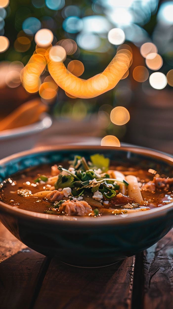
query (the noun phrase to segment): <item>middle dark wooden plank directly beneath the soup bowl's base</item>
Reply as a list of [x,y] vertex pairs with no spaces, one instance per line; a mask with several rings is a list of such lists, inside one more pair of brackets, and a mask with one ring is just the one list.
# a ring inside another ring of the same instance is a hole
[[95,269],[53,259],[34,309],[130,309],[133,270],[134,257]]

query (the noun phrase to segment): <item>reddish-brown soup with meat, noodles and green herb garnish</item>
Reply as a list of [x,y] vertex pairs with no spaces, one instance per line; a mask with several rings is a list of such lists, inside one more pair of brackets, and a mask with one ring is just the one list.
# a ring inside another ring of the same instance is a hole
[[44,165],[15,174],[3,182],[0,199],[25,210],[95,218],[171,203],[173,178],[149,171],[110,166],[109,159],[99,154],[88,162],[75,156],[67,168]]

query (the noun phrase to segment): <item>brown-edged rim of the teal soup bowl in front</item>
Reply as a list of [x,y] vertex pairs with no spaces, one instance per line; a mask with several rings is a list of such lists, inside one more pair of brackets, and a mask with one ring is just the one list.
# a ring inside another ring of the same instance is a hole
[[[125,145],[125,146],[124,146]],[[44,153],[44,152],[53,152],[56,150],[129,150],[133,153],[139,153],[142,155],[146,155],[149,157],[161,159],[162,161],[169,162],[173,166],[173,155],[169,155],[165,152],[153,150],[151,148],[141,147],[141,146],[135,146],[130,144],[122,144],[121,147],[113,147],[113,146],[78,146],[78,145],[51,145],[51,146],[40,146],[33,148],[31,150],[25,150],[19,153],[16,153],[14,155],[10,155],[4,159],[0,160],[0,165],[3,165],[7,162],[10,162],[13,159],[16,158],[22,158],[26,155],[36,154],[36,153]],[[128,146],[127,146],[128,145]],[[53,214],[42,214],[42,213],[36,213],[29,210],[23,210],[20,208],[15,208],[12,205],[8,205],[2,201],[0,201],[0,208],[7,210],[7,212],[11,213],[14,216],[18,217],[24,217],[25,219],[32,219],[36,221],[42,221],[45,223],[51,223],[51,224],[63,224],[63,225],[77,225],[77,226],[102,226],[102,225],[126,225],[129,223],[139,222],[139,221],[145,221],[149,219],[158,218],[164,215],[167,215],[169,211],[173,211],[173,202],[169,203],[167,205],[160,206],[155,209],[151,209],[149,211],[143,212],[137,212],[132,214],[122,214],[118,216],[103,216],[99,217],[97,219],[95,218],[87,218],[87,217],[67,217],[67,216],[58,216]]]

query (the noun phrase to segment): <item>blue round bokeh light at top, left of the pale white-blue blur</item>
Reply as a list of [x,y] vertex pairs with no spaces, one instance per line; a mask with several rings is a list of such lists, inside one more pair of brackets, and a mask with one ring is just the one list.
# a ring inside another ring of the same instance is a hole
[[66,32],[78,33],[83,27],[82,19],[77,16],[67,17],[62,23],[62,27]]

